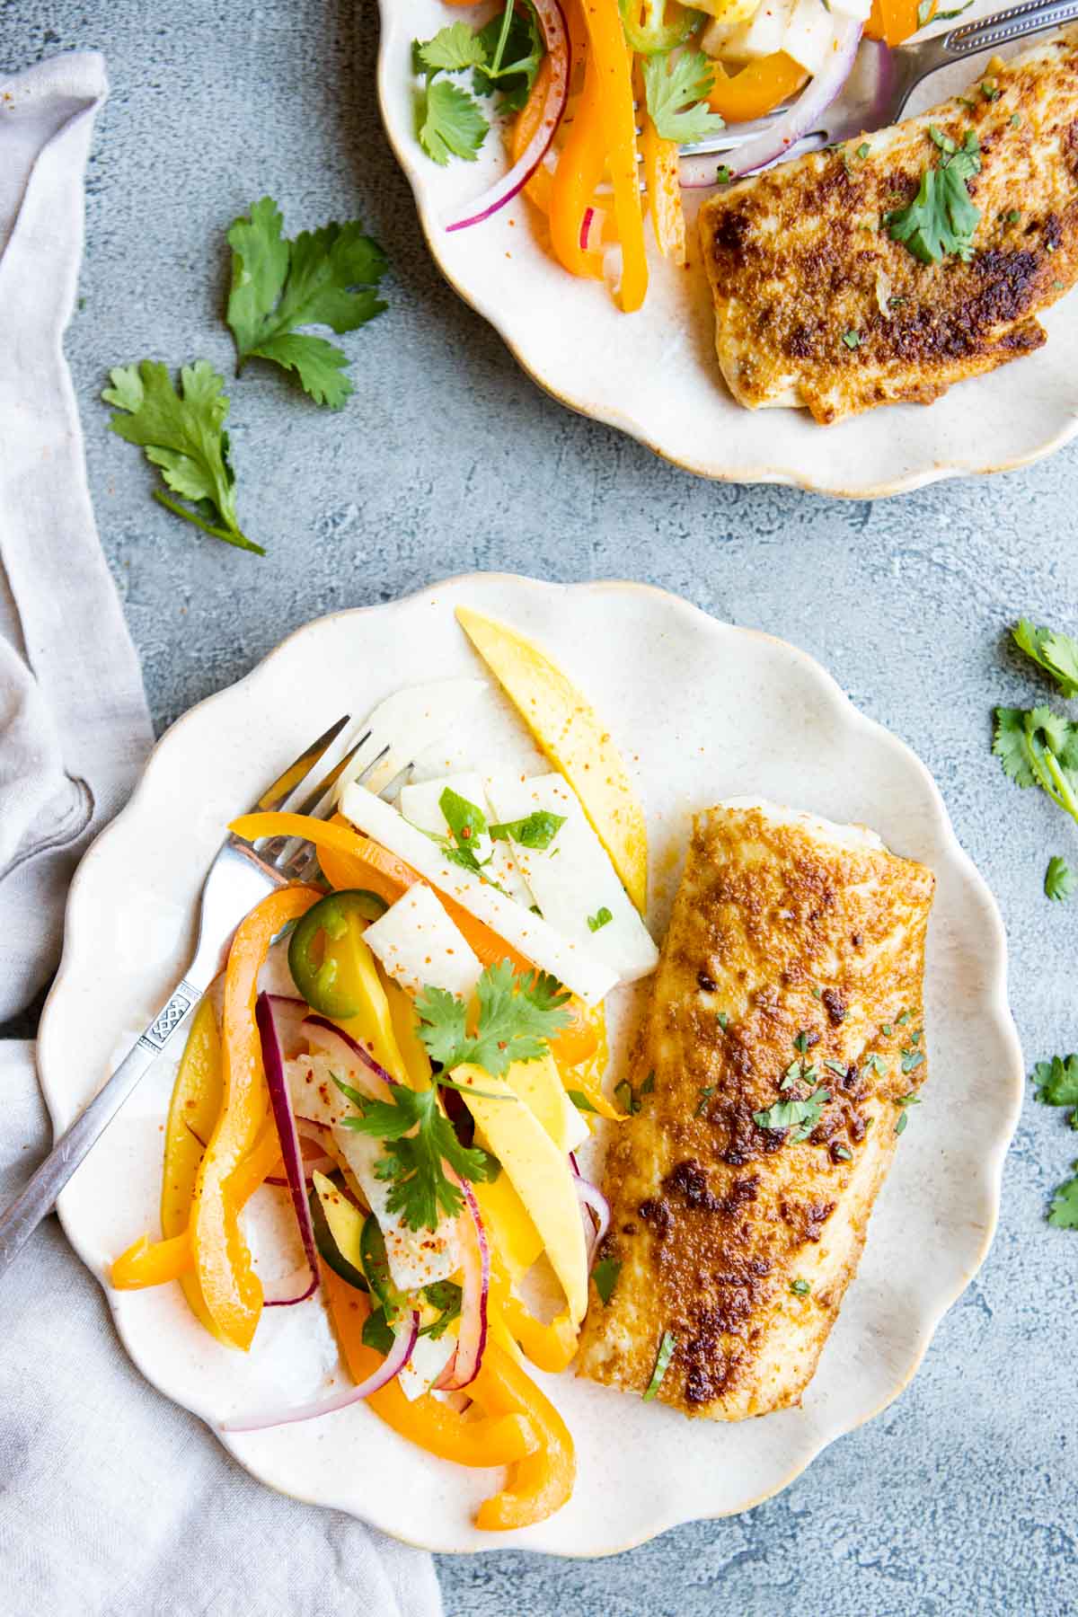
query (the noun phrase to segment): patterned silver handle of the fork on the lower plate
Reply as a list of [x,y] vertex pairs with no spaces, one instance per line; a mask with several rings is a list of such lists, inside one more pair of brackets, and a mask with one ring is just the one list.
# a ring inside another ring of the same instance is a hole
[[50,1151],[37,1172],[31,1176],[21,1195],[0,1214],[0,1276],[19,1255],[74,1169],[137,1087],[147,1067],[157,1061],[187,1012],[197,1006],[202,994],[204,988],[196,986],[187,977],[173,988],[168,1004],[162,1006],[108,1083],[76,1117],[57,1143],[57,1150]]

